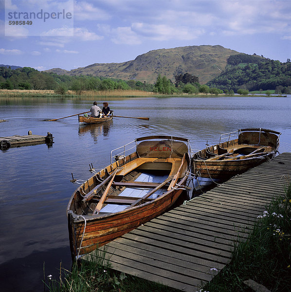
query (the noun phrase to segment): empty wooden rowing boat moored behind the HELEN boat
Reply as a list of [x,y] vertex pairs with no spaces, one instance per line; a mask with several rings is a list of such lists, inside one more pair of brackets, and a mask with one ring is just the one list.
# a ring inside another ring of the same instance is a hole
[[[239,129],[222,134],[219,144],[208,146],[192,157],[191,172],[195,176],[195,189],[223,183],[272,159],[279,147],[280,135],[279,132],[262,128]],[[230,140],[234,137],[237,138]]]

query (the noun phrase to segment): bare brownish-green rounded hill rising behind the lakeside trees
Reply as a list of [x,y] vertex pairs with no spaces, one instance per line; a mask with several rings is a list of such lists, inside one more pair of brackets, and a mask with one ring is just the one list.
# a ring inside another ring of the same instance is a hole
[[175,75],[190,73],[198,76],[200,83],[204,84],[224,71],[229,56],[236,54],[240,53],[219,45],[187,46],[149,51],[123,63],[95,63],[71,71],[54,68],[45,72],[133,79],[147,83],[154,83],[158,74],[174,82]]

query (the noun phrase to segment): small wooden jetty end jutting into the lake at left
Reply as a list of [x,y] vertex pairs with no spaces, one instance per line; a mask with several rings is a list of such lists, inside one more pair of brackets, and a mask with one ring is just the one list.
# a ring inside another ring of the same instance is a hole
[[34,135],[28,131],[28,135],[14,135],[10,137],[0,137],[0,149],[6,150],[10,147],[30,146],[46,143],[53,144],[53,135],[48,132],[46,136]]

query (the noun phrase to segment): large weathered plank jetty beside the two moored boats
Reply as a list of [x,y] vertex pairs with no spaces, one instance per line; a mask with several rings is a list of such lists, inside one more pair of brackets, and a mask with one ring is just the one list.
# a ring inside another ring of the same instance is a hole
[[291,153],[223,183],[119,237],[103,249],[113,269],[181,291],[199,291],[231,261],[234,240],[291,177]]

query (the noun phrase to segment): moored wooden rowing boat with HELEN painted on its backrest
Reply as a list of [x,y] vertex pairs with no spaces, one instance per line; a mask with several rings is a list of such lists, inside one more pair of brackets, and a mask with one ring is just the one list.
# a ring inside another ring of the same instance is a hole
[[112,150],[111,164],[82,183],[68,204],[73,259],[168,210],[189,189],[190,153],[188,139],[172,136],[142,137]]

